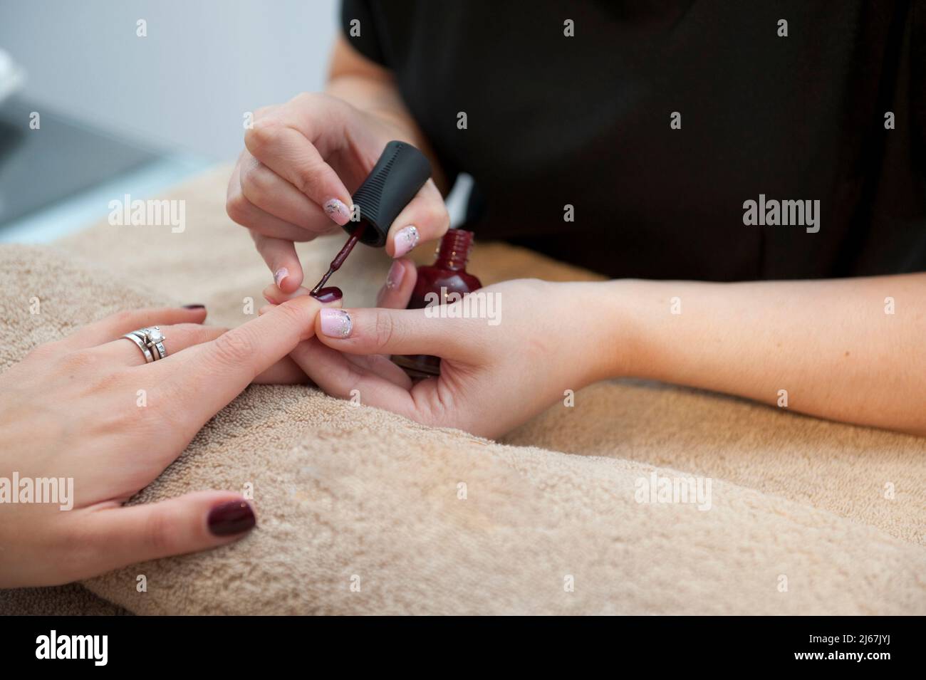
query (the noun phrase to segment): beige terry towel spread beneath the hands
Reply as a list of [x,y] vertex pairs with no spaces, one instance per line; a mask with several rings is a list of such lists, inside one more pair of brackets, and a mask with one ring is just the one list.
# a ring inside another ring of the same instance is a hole
[[[104,224],[67,252],[0,249],[3,365],[127,305],[249,318],[269,274],[224,216],[226,176],[169,196],[187,202],[183,233]],[[307,278],[340,241],[301,249]],[[352,260],[336,283],[370,303],[387,258]],[[139,267],[157,290],[133,282]],[[501,245],[471,269],[485,283],[587,277]],[[924,454],[923,439],[632,381],[584,389],[505,444],[257,386],[138,499],[250,484],[257,530],[85,586],[138,613],[926,613]],[[710,477],[710,509],[637,502],[654,473]],[[23,600],[0,594],[0,611]]]

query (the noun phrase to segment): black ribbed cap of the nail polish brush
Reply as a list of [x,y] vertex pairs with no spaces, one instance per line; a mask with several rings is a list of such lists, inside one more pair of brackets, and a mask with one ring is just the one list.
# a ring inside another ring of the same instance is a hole
[[344,225],[353,234],[366,223],[361,243],[382,247],[394,219],[431,177],[431,164],[407,142],[389,142],[367,179],[354,192],[353,201],[360,219]]

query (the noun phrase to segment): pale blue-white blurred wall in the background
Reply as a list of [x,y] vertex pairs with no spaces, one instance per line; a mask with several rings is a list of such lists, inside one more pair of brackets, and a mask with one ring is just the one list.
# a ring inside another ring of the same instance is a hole
[[244,111],[320,89],[338,11],[336,0],[3,0],[0,47],[40,105],[231,160]]

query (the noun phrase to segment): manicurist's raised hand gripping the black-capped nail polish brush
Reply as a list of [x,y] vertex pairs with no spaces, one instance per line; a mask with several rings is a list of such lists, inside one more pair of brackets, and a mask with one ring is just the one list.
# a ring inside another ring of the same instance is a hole
[[[389,72],[343,39],[332,57],[328,93],[300,94],[255,113],[229,181],[226,209],[250,229],[282,292],[303,282],[294,241],[341,231],[338,225],[350,219],[351,193],[393,140],[424,146]],[[401,257],[419,241],[441,237],[449,223],[429,179],[396,217],[386,252]]]

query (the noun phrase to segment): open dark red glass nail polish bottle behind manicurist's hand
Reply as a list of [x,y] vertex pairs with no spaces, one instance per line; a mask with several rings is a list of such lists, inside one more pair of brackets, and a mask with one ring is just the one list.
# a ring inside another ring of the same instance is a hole
[[[448,229],[437,248],[433,265],[418,267],[418,279],[407,309],[422,309],[445,304],[482,288],[482,283],[466,270],[472,250],[472,231]],[[454,295],[453,293],[457,293]],[[423,378],[441,375],[441,359],[427,354],[396,355],[394,364],[402,366],[409,377]]]

